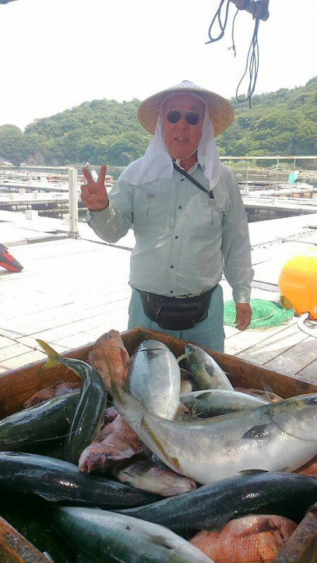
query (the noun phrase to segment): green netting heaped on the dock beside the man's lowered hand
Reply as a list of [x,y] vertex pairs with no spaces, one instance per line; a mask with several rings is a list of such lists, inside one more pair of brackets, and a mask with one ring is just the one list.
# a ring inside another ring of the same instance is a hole
[[[265,301],[264,299],[251,299],[252,316],[249,329],[268,329],[287,323],[294,315],[294,308],[285,309],[278,301]],[[224,324],[235,326],[235,303],[227,301],[223,315]]]

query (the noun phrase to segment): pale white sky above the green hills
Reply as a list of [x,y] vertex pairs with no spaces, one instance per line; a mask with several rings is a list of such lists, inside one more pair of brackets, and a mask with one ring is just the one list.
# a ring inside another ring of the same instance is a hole
[[[225,37],[206,45],[219,3],[17,0],[0,5],[0,125],[23,129],[93,99],[145,99],[182,80],[235,96],[254,22],[249,13],[237,15],[234,58],[228,51],[232,4]],[[256,94],[302,86],[317,74],[316,0],[271,0],[269,11],[259,26]]]

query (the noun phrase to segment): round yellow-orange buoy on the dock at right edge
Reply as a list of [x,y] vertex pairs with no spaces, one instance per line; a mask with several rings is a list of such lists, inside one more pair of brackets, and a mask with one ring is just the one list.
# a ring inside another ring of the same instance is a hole
[[278,286],[285,308],[290,303],[299,315],[309,312],[317,319],[317,247],[290,258],[282,267]]

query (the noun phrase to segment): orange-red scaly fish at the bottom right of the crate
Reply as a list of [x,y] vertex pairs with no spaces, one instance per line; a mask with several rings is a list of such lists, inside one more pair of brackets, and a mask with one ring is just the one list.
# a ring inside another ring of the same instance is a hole
[[216,562],[268,563],[296,527],[282,516],[252,514],[231,520],[219,532],[203,530],[189,543]]

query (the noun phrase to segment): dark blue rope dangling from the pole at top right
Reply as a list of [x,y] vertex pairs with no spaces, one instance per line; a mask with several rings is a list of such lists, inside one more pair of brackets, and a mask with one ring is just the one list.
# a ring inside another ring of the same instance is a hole
[[[214,43],[216,41],[219,41],[219,39],[222,39],[222,37],[225,34],[225,27],[228,23],[228,14],[229,14],[229,7],[230,7],[230,1],[234,2],[236,4],[235,0],[227,0],[227,4],[225,6],[225,15],[223,17],[223,4],[225,4],[225,0],[220,0],[220,4],[218,7],[218,10],[216,11],[216,14],[213,16],[213,20],[211,21],[211,25],[209,25],[209,30],[208,30],[208,34],[209,34],[209,42],[206,42],[206,44],[208,45],[209,43]],[[268,1],[269,0],[259,0],[259,1],[254,1],[254,0],[244,0],[242,2],[242,4],[240,4],[239,2],[239,6],[237,6],[237,11],[235,13],[235,17],[233,18],[232,21],[232,46],[229,48],[233,50],[235,56],[236,56],[236,49],[235,49],[235,18],[237,17],[237,13],[240,10],[248,10],[252,13],[252,15],[254,16],[255,19],[255,24],[254,24],[254,32],[252,35],[252,39],[251,39],[251,44],[249,46],[249,51],[247,54],[247,63],[246,63],[246,67],[244,70],[244,73],[242,75],[242,78],[239,82],[239,84],[237,85],[237,90],[235,93],[235,97],[237,99],[237,101],[239,102],[245,102],[245,101],[249,101],[249,107],[251,108],[251,97],[254,94],[254,90],[256,87],[256,80],[258,77],[258,72],[259,72],[259,43],[258,43],[258,32],[259,32],[259,23],[261,19],[267,19],[268,18]],[[259,11],[259,8],[261,8],[261,10]],[[256,17],[255,17],[256,14]],[[220,32],[218,33],[217,37],[213,37],[213,29],[215,27],[215,23],[216,21],[218,21],[218,25],[220,27]],[[247,71],[249,70],[249,86],[247,89],[247,96],[241,98],[240,94],[239,94],[239,89],[240,86],[244,80],[244,77],[247,75]]]

